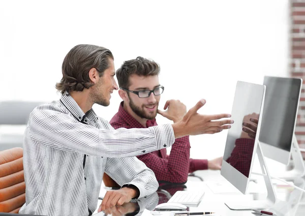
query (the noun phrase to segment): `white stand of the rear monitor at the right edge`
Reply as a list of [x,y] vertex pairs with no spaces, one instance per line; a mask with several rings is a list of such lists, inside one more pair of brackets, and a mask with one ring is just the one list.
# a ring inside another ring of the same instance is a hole
[[280,176],[277,175],[278,178],[293,180],[296,177],[303,177],[305,175],[304,160],[295,135],[292,137],[291,157],[294,166],[293,169],[282,173]]

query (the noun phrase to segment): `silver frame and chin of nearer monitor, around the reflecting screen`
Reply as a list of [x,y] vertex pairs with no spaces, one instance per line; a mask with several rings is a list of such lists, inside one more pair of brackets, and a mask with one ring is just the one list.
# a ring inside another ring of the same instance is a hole
[[[252,161],[251,161],[250,171],[249,171],[249,177],[250,177],[251,171],[253,168],[253,164],[254,164],[254,160],[255,160],[257,144],[258,144],[262,112],[263,112],[264,100],[265,100],[266,86],[260,85],[260,84],[249,83],[249,82],[237,81],[236,89],[237,89],[238,85],[252,85],[252,86],[255,86],[256,88],[258,88],[258,90],[263,90],[262,104],[261,104],[261,108],[260,108],[259,121],[258,121],[257,132],[256,132],[256,137],[255,137],[254,147],[253,147]],[[235,94],[235,96],[236,96],[236,94]],[[235,101],[235,96],[234,96],[234,101]],[[232,111],[234,108],[234,101],[233,101]],[[235,104],[235,106],[236,105],[237,104]],[[232,116],[231,118],[234,120],[234,116]],[[224,176],[231,184],[233,184],[233,186],[235,188],[237,188],[241,193],[246,194],[250,178],[243,175],[241,172],[239,172],[237,169],[235,169],[233,166],[231,166],[224,159],[223,159],[222,168],[221,168],[221,175]]]

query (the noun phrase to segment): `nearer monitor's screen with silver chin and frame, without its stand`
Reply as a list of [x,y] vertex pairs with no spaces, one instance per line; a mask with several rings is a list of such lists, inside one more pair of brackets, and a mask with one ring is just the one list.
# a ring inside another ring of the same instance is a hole
[[256,153],[264,92],[264,85],[236,84],[231,112],[234,124],[228,130],[221,174],[242,193],[246,193]]

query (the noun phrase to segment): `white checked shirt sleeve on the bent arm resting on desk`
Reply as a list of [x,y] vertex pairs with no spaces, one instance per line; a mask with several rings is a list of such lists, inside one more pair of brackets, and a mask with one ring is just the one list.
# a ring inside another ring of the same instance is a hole
[[154,172],[136,157],[108,158],[105,173],[120,186],[136,186],[140,191],[139,198],[156,192],[159,187]]

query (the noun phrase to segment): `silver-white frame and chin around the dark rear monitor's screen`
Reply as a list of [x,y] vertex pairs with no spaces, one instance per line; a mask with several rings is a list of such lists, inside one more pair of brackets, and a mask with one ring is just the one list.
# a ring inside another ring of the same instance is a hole
[[[300,80],[300,91],[299,91],[299,96],[298,96],[298,101],[297,101],[297,108],[296,108],[296,115],[295,115],[295,120],[294,120],[294,126],[293,126],[293,134],[295,134],[295,125],[296,125],[296,120],[297,120],[297,112],[298,112],[298,107],[299,107],[299,101],[300,101],[300,96],[301,96],[301,90],[302,90],[302,79],[301,78],[290,78],[290,77],[272,77],[272,76],[264,76],[265,78],[281,78],[281,79],[287,79],[287,80],[292,80],[292,79],[297,79]],[[276,146],[270,145],[268,143],[264,143],[260,141],[262,151],[264,153],[264,157],[267,157],[269,159],[278,161],[284,165],[288,165],[290,158],[291,158],[291,149],[292,149],[292,140],[291,138],[291,144],[290,144],[290,150],[284,150],[282,148],[278,148]]]

